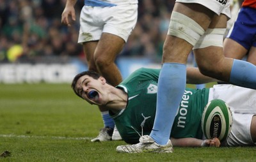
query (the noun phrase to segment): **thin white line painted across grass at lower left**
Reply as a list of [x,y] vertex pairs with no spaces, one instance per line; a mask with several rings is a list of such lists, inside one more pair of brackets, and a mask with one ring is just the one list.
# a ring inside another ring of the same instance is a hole
[[26,135],[0,135],[8,138],[54,138],[60,140],[91,140],[90,137],[65,137],[65,136],[26,136]]

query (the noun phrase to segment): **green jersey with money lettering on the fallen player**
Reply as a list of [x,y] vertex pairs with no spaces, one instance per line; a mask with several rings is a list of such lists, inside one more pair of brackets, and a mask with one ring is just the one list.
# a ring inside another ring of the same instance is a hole
[[[160,70],[140,68],[116,86],[127,92],[128,103],[119,113],[109,111],[109,114],[122,139],[129,144],[138,143],[140,135],[149,135],[153,128],[159,72]],[[172,137],[202,138],[201,117],[208,96],[209,89],[186,88],[173,123]]]

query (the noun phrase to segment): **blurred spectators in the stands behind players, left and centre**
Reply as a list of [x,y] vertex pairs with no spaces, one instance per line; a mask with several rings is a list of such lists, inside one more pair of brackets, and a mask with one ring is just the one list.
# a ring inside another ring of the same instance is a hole
[[[139,0],[138,22],[118,57],[160,62],[174,3]],[[0,0],[0,63],[65,63],[70,57],[85,61],[77,43],[83,4],[77,1],[76,22],[67,27],[61,24],[65,0]]]

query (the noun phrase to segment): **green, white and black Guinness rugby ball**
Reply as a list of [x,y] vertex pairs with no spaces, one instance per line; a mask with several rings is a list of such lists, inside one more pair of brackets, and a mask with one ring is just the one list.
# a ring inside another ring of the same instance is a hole
[[225,101],[212,99],[202,114],[202,130],[207,139],[214,137],[225,140],[233,124],[232,112]]

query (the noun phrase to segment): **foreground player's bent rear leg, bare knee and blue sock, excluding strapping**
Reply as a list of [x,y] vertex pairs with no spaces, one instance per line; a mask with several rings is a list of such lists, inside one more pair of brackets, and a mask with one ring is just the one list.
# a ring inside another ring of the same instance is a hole
[[[214,17],[209,28],[225,28],[227,17]],[[194,50],[201,73],[224,82],[256,89],[256,66],[246,61],[234,60],[223,55],[223,48],[209,46]]]

